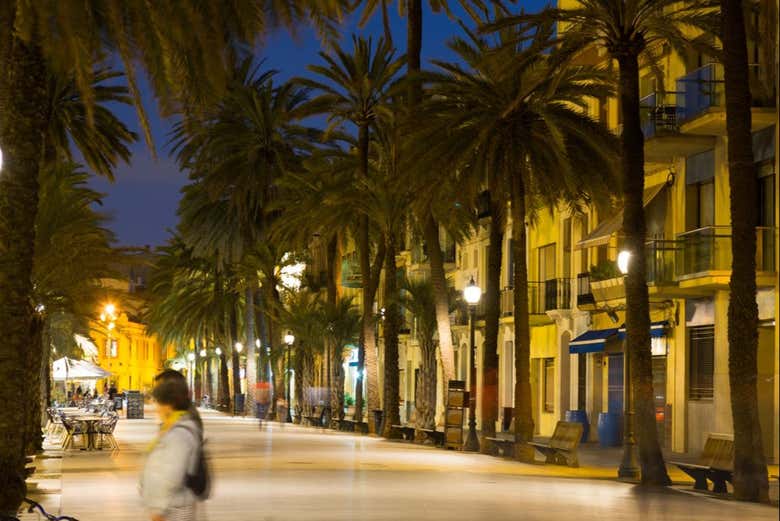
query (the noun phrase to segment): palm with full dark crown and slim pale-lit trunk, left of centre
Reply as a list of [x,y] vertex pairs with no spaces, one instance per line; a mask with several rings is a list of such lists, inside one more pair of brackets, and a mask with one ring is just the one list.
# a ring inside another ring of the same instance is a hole
[[[274,75],[245,58],[235,66],[228,93],[219,104],[203,116],[183,121],[173,134],[179,164],[197,181],[182,206],[185,238],[198,252],[242,266],[250,414],[258,372],[254,320],[258,269],[253,250],[267,240],[276,180],[285,171],[300,168],[301,155],[319,135],[293,122],[306,91],[290,83],[275,86]],[[206,207],[211,211],[204,213]],[[219,212],[226,214],[215,215]]]

